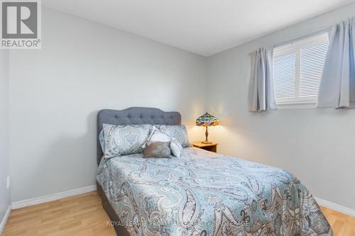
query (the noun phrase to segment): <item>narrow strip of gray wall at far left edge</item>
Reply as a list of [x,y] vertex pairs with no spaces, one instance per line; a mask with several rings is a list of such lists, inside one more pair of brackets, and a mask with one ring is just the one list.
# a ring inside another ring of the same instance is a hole
[[9,170],[9,52],[0,50],[0,222],[10,205]]

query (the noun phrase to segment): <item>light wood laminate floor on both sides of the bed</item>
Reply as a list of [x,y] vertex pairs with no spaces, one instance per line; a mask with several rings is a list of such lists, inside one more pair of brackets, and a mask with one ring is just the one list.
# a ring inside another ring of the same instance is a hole
[[[355,218],[322,207],[334,236],[355,236]],[[97,192],[12,210],[4,236],[116,235]]]

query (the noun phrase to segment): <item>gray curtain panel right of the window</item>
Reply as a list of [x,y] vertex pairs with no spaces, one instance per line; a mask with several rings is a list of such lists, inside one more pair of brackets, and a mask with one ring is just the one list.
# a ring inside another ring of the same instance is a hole
[[334,26],[324,63],[317,107],[355,107],[355,18]]

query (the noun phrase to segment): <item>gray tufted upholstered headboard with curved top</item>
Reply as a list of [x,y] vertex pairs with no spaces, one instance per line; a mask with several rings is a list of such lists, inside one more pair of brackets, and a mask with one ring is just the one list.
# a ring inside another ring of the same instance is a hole
[[101,110],[97,113],[97,164],[102,158],[99,133],[102,124],[110,125],[180,125],[181,115],[178,112],[165,112],[158,108],[132,107],[126,110]]

